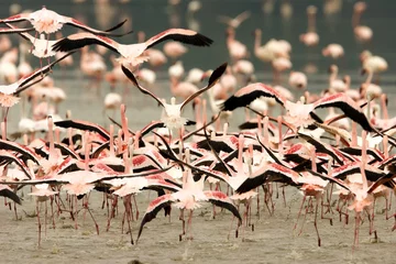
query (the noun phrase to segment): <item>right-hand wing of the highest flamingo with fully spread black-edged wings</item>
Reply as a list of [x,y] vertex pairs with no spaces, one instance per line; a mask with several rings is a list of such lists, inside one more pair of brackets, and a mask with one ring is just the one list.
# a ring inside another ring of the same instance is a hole
[[213,43],[212,40],[196,31],[185,29],[169,29],[148,38],[145,42],[146,48],[153,47],[167,40],[173,40],[195,46],[210,46],[210,44]]

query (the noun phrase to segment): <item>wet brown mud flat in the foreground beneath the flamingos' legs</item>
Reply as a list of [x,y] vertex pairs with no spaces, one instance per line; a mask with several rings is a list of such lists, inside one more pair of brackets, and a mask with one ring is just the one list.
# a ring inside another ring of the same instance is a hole
[[[92,191],[89,208],[99,224],[99,235],[88,212],[81,209],[78,213],[78,229],[70,215],[63,212],[55,217],[56,228],[52,227],[48,206],[47,230],[44,229],[44,204],[42,205],[42,245],[37,249],[37,220],[34,198],[28,196],[29,188],[23,189],[23,204],[18,207],[19,220],[9,207],[0,207],[0,235],[2,245],[0,263],[392,263],[396,244],[395,232],[392,232],[394,220],[385,220],[384,202],[376,205],[375,228],[380,240],[369,235],[369,220],[365,217],[360,229],[360,244],[353,250],[354,212],[350,212],[349,224],[339,221],[336,206],[332,207],[333,226],[329,220],[318,217],[318,228],[322,245],[317,244],[314,228],[314,213],[305,210],[294,230],[297,212],[302,196],[293,187],[286,187],[286,206],[282,195],[275,198],[275,211],[270,216],[261,193],[260,218],[256,215],[256,200],[252,204],[251,222],[245,228],[242,241],[242,227],[235,238],[235,221],[229,235],[232,215],[217,208],[212,219],[212,206],[202,204],[194,212],[193,240],[179,242],[182,222],[179,210],[172,209],[170,219],[160,211],[156,219],[148,222],[138,244],[131,244],[130,234],[121,233],[124,207],[119,200],[118,213],[106,231],[107,209],[101,209],[102,194]],[[65,195],[62,194],[63,199]],[[133,238],[136,239],[140,221],[155,193],[143,191],[136,197],[140,217],[132,222]],[[336,199],[333,197],[333,199]],[[48,202],[50,205],[50,202]],[[78,206],[81,208],[81,204]],[[56,208],[55,208],[56,210]],[[240,212],[243,213],[243,205]],[[394,209],[392,209],[393,211]],[[84,217],[85,215],[85,217]],[[84,219],[85,218],[85,219]],[[304,230],[298,235],[301,224]]]

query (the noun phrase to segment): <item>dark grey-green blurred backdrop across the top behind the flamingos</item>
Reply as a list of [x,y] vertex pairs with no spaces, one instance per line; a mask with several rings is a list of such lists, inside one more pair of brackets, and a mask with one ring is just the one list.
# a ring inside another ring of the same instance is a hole
[[[84,21],[96,29],[108,29],[123,19],[129,21],[123,29],[132,29],[134,33],[117,38],[125,44],[138,41],[136,33],[144,31],[150,37],[168,28],[189,28],[210,36],[215,43],[210,48],[190,47],[183,61],[186,68],[213,68],[228,61],[226,47],[227,25],[220,23],[219,15],[237,16],[243,11],[251,13],[237,29],[237,38],[251,50],[250,59],[257,73],[264,65],[254,56],[255,29],[263,31],[262,43],[271,38],[288,41],[292,46],[293,69],[304,70],[307,63],[315,63],[319,73],[328,69],[332,59],[321,55],[321,50],[330,43],[343,46],[345,55],[337,62],[343,70],[359,72],[359,54],[370,50],[374,54],[386,57],[391,70],[395,61],[394,47],[396,35],[393,28],[396,18],[396,1],[365,1],[367,10],[362,15],[362,24],[369,25],[373,32],[371,42],[361,44],[355,41],[352,30],[352,0],[199,0],[199,8],[191,10],[189,0],[2,0],[0,16],[7,18],[10,12],[23,10],[35,11],[46,6],[61,14]],[[307,31],[308,6],[315,6],[317,11],[317,32],[319,44],[306,47],[299,35]],[[67,35],[76,30],[64,26]],[[18,40],[18,35],[12,36]],[[162,45],[161,45],[162,46]],[[160,46],[160,47],[161,47]],[[109,56],[109,53],[107,54]],[[35,58],[32,58],[35,61]]]

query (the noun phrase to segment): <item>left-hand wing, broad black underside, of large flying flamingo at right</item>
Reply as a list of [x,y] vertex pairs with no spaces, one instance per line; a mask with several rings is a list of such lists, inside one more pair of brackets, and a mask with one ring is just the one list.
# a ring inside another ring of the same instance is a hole
[[238,90],[233,96],[227,99],[221,106],[222,111],[232,111],[240,107],[246,107],[252,101],[260,97],[270,97],[274,98],[282,106],[287,101],[279,92],[277,92],[272,87],[256,82],[249,86],[245,86]]

